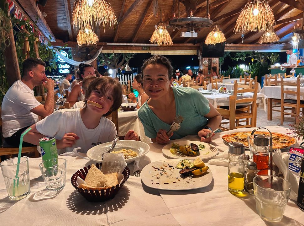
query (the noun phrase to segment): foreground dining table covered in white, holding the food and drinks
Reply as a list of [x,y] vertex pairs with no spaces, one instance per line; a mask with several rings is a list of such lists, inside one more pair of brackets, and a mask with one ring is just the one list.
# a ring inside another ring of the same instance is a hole
[[[280,126],[266,128],[271,132],[288,132]],[[59,158],[67,161],[66,186],[56,192],[49,192],[45,188],[39,170],[41,158],[29,158],[31,192],[27,197],[18,201],[10,200],[2,173],[0,175],[1,225],[303,225],[303,211],[292,200],[288,201],[281,222],[269,223],[262,220],[256,212],[254,196],[247,192],[234,196],[228,192],[228,160],[223,160],[226,164],[212,164],[212,160],[228,151],[228,145],[221,138],[224,134],[252,130],[253,128],[240,128],[218,132],[212,137],[210,144],[218,149],[218,155],[204,160],[212,173],[209,184],[182,191],[174,186],[168,190],[151,188],[142,183],[142,174],[140,177],[133,176],[132,162],[128,164],[131,171],[128,180],[113,199],[105,202],[88,202],[71,184],[71,176],[77,170],[95,163],[85,153],[59,155]],[[170,142],[181,141],[198,142],[200,137],[190,135]],[[297,140],[293,146],[299,147],[299,143]],[[162,152],[164,146],[150,143],[149,152],[137,161],[139,170],[150,163],[169,159]],[[284,150],[282,153],[284,154]]]

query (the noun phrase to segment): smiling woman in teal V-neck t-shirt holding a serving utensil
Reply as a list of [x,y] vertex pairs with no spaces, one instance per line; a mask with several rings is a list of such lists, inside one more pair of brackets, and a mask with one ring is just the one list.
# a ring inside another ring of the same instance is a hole
[[[195,89],[171,87],[172,65],[164,56],[152,56],[141,71],[144,91],[150,97],[138,112],[146,136],[153,142],[166,144],[170,139],[197,134],[202,142],[210,142],[211,137],[205,136],[218,128],[222,117],[209,101]],[[167,136],[176,115],[185,119],[178,131]]]

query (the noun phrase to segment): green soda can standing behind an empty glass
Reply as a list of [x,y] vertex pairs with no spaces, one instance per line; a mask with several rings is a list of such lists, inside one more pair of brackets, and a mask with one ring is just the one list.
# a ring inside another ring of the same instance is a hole
[[[58,159],[55,137],[43,137],[39,139],[41,158],[43,161],[49,159]],[[48,161],[50,162],[50,161]],[[57,164],[57,160],[51,163],[45,163],[45,167],[52,167]]]

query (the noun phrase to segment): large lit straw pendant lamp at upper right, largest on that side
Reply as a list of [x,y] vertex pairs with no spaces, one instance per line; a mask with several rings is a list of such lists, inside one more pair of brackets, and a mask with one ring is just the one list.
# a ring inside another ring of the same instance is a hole
[[262,31],[273,25],[275,18],[266,0],[249,0],[238,16],[233,31]]

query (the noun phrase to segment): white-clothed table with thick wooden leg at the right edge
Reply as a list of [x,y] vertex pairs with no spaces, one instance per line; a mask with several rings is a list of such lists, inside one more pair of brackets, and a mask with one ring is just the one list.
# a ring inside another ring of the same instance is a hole
[[[296,86],[284,86],[284,90],[296,91]],[[267,120],[272,120],[272,99],[281,100],[281,86],[263,86],[260,94],[267,97]],[[284,99],[296,100],[296,95],[284,94]],[[300,87],[300,100],[304,100],[304,87]]]

